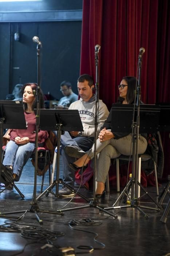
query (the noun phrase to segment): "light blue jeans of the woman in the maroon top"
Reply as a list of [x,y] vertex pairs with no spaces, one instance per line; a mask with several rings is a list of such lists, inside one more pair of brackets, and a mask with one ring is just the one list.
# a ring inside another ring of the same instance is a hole
[[17,175],[16,181],[19,181],[23,167],[25,163],[27,163],[34,149],[35,144],[30,142],[24,145],[17,145],[10,140],[7,143],[3,165],[10,165],[13,167],[13,173]]

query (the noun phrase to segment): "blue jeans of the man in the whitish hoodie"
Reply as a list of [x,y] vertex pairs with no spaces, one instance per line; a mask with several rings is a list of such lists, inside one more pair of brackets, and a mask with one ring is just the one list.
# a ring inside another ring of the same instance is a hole
[[[54,133],[57,135],[57,132]],[[65,146],[77,146],[80,150],[86,152],[92,147],[93,141],[93,137],[72,137],[69,132],[65,132],[61,135],[60,143],[62,146],[63,181],[72,188],[74,188],[75,172],[69,167],[69,163],[76,161],[76,158],[69,157],[63,149]]]

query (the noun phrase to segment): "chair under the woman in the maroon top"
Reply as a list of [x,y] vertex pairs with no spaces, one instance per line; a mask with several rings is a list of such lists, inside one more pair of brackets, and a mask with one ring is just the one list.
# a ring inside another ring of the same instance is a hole
[[[2,147],[2,150],[3,150],[3,156],[2,156],[2,159],[4,158],[4,155],[5,155],[5,147],[6,146],[3,146]],[[42,193],[43,191],[43,185],[44,185],[44,176],[45,176],[45,173],[46,173],[46,170],[47,170],[47,165],[48,165],[48,170],[49,170],[49,183],[50,183],[50,180],[51,180],[51,167],[50,167],[50,152],[47,148],[45,147],[38,147],[37,148],[37,151],[38,151],[38,166],[39,166],[39,161],[40,159],[44,159],[44,163],[43,163],[43,171],[40,172],[40,170],[38,169],[38,175],[41,176],[42,175],[42,181],[41,181],[41,190],[40,190],[40,193]],[[32,153],[32,155],[29,157],[29,158],[32,158],[32,159],[35,159],[35,153]],[[35,166],[35,161],[32,161],[32,164],[33,166]],[[15,185],[16,186],[16,185]],[[14,186],[14,187],[15,187]],[[17,189],[16,189],[17,190]],[[19,191],[18,191],[19,192]]]

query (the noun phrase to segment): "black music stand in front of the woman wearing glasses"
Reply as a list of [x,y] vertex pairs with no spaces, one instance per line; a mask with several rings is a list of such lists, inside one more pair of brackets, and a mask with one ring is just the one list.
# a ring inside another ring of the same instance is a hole
[[[134,110],[134,104],[113,104],[112,105],[112,120],[111,120],[111,131],[112,132],[129,132],[131,133],[134,129],[132,125],[133,121],[133,110]],[[139,126],[139,132],[140,133],[156,133],[159,130],[159,113],[160,113],[160,107],[157,105],[140,105],[140,126]],[[135,115],[137,114],[137,108],[135,108]],[[135,118],[134,118],[135,120]],[[133,132],[134,135],[134,132]],[[133,138],[133,141],[136,138]],[[133,200],[130,199],[131,204],[127,206],[116,206],[116,204],[119,202],[119,200],[126,195],[128,196],[128,191],[130,187],[134,187],[135,182],[135,174],[137,175],[138,170],[134,170],[133,177],[129,180],[126,187],[123,189],[122,193],[116,200],[116,202],[113,204],[112,207],[104,208],[106,210],[116,209],[116,208],[127,208],[127,207],[133,207],[137,208],[145,217],[148,217],[145,212],[143,212],[140,207],[157,210],[159,211],[162,207],[159,203],[157,203],[146,191],[146,189],[137,181],[137,185],[139,185],[143,191],[150,197],[150,199],[158,206],[158,208],[153,207],[147,207],[139,205],[137,202],[137,199],[133,198]],[[132,188],[133,188],[132,187]],[[134,191],[132,189],[132,191]],[[134,197],[134,195],[132,195]],[[137,202],[137,203],[136,203]]]

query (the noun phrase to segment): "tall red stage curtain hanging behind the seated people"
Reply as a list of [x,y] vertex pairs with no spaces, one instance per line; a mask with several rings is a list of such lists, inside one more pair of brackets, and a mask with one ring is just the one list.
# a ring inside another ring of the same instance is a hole
[[[118,97],[123,76],[137,76],[139,49],[142,60],[141,99],[144,103],[170,102],[170,1],[84,0],[80,74],[95,79],[95,48],[99,52],[99,95],[108,109]],[[170,117],[167,117],[170,118]],[[165,165],[170,174],[169,133],[161,134]]]

